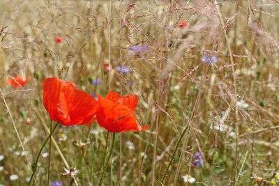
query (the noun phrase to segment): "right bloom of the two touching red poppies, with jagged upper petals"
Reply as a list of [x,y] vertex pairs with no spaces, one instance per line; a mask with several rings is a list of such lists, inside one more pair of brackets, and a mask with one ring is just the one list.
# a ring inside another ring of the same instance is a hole
[[102,98],[98,96],[97,121],[109,132],[141,131],[149,127],[142,127],[135,119],[134,111],[137,107],[137,95],[121,95],[110,91]]

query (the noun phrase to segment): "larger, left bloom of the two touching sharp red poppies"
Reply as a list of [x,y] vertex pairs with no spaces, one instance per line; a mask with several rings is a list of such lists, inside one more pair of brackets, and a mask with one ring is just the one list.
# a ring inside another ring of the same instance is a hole
[[98,108],[91,95],[56,77],[43,81],[43,104],[50,118],[63,125],[90,123]]

